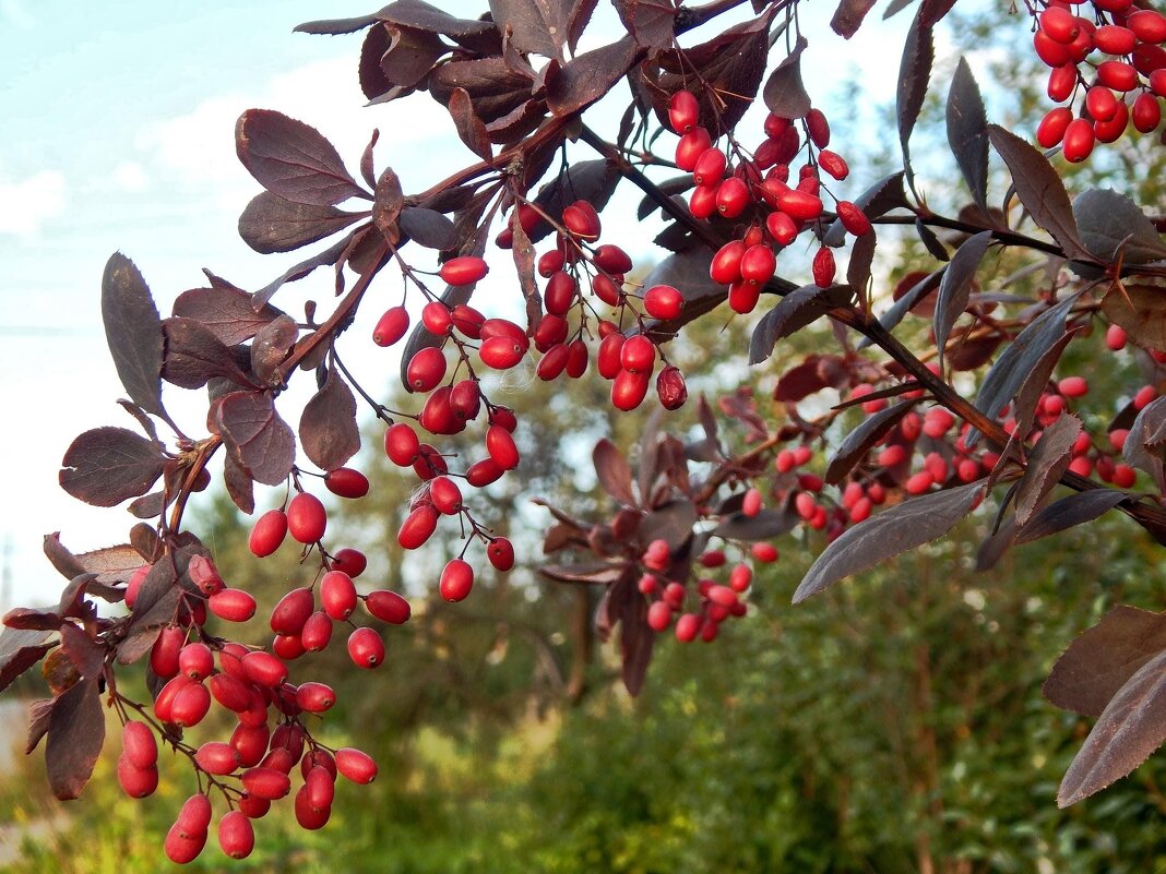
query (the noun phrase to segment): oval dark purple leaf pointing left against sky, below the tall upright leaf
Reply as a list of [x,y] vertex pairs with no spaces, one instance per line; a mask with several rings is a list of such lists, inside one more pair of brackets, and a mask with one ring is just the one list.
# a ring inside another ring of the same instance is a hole
[[125,428],[94,428],[77,437],[61,461],[61,487],[94,507],[114,507],[146,494],[162,475],[166,457]]

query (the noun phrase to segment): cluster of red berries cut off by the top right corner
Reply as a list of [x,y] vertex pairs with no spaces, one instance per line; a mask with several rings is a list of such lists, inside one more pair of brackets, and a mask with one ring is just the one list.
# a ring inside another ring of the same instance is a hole
[[[1052,68],[1048,97],[1066,104],[1045,115],[1037,141],[1046,149],[1060,145],[1073,163],[1089,157],[1095,143],[1117,141],[1131,124],[1143,134],[1156,131],[1166,97],[1166,16],[1133,0],[1089,6],[1053,0],[1031,7],[1033,47]],[[1094,52],[1101,59],[1091,59]]]

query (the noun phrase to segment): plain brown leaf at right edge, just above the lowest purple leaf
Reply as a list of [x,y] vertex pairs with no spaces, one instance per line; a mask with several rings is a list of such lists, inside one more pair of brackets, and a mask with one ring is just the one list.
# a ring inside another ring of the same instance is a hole
[[1130,677],[1166,650],[1166,615],[1114,607],[1065,650],[1041,686],[1062,710],[1100,717]]

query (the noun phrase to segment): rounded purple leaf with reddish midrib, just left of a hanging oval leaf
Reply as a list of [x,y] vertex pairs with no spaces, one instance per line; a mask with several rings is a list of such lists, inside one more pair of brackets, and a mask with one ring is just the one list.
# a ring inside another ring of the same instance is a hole
[[251,477],[278,486],[295,463],[295,435],[266,392],[232,392],[212,406],[208,425]]

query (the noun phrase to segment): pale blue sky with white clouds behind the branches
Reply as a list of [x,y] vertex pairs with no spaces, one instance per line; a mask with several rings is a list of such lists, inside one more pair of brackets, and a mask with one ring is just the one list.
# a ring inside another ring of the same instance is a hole
[[[469,0],[441,5],[473,17],[485,8]],[[7,411],[0,608],[56,600],[63,580],[43,558],[43,535],[59,530],[65,545],[83,551],[124,542],[133,522],[57,485],[73,437],[100,425],[134,427],[117,406],[125,393],[101,326],[100,277],[110,255],[120,251],[135,261],[163,316],[181,291],[205,284],[203,267],[254,289],[303,255],[258,255],[236,232],[260,190],[234,155],[234,121],[244,110],[273,108],[312,125],[353,172],[379,127],[378,171],[393,165],[407,191],[472,161],[433,100],[363,106],[360,35],[292,33],[302,21],[374,6],[0,0],[0,399]],[[607,3],[600,7],[597,33],[610,34],[613,15]],[[886,99],[897,64],[879,63],[885,30],[872,24],[851,43],[823,34],[831,42],[821,51],[812,36],[805,61],[812,91],[829,91],[844,69]],[[838,50],[847,52],[844,66]],[[625,105],[625,86],[616,91],[612,99]],[[634,203],[631,196],[614,202],[605,227],[633,255],[659,258],[648,251],[649,234],[630,233]],[[323,308],[328,282],[322,273],[315,286],[298,283],[274,302],[298,313],[310,295]],[[393,294],[398,288],[393,283]],[[366,309],[377,310],[374,319],[381,308]],[[371,322],[353,333],[363,330],[371,331]],[[395,361],[363,346],[351,353],[356,362],[385,374],[370,385],[387,380]],[[346,362],[353,364],[347,354]],[[163,399],[188,434],[205,434],[201,394],[171,387]]]

